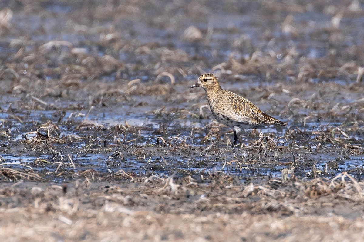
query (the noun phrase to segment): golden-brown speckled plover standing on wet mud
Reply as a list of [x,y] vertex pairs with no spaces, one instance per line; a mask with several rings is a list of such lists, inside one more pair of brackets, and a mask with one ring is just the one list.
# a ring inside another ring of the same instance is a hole
[[215,119],[234,131],[234,142],[236,144],[242,130],[248,128],[262,128],[270,125],[287,126],[287,122],[282,122],[272,116],[262,112],[248,99],[237,95],[231,91],[222,89],[217,78],[211,74],[202,74],[198,82],[190,88],[202,87],[206,91],[207,101]]

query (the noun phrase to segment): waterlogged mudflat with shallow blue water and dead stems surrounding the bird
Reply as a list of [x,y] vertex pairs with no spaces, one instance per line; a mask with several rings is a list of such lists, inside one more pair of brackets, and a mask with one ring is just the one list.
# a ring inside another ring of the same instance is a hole
[[[203,177],[222,167],[248,181],[280,177],[292,164],[299,178],[362,177],[363,87],[354,83],[364,66],[362,9],[342,1],[3,5],[12,10],[0,29],[5,163],[57,182],[89,169],[103,178],[120,170]],[[199,40],[185,35],[189,26]],[[59,40],[69,43],[48,42]],[[199,112],[204,92],[188,89],[212,68],[223,88],[289,127],[243,132],[245,147],[230,148],[232,132],[211,124],[208,108]],[[163,72],[176,84],[154,82]],[[47,128],[36,131],[49,120],[59,130],[45,138]]]

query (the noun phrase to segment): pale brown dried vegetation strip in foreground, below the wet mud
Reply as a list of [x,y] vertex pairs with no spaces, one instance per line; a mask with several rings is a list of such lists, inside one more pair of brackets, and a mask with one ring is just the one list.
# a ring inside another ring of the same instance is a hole
[[246,185],[221,172],[205,179],[209,183],[151,176],[138,186],[87,179],[62,186],[5,185],[1,214],[7,219],[0,222],[0,238],[223,241],[229,234],[247,241],[355,241],[362,236],[364,184],[346,173],[332,180]]

